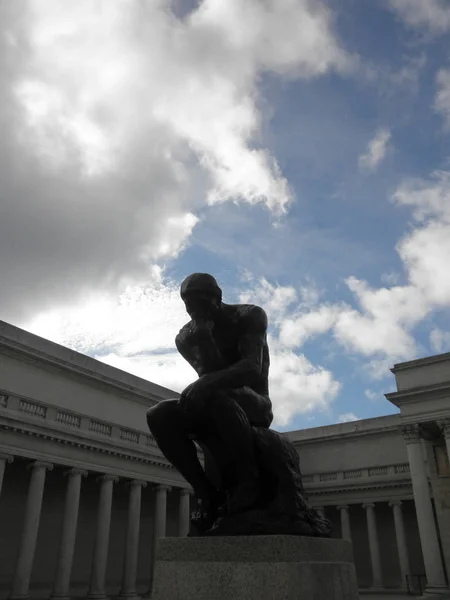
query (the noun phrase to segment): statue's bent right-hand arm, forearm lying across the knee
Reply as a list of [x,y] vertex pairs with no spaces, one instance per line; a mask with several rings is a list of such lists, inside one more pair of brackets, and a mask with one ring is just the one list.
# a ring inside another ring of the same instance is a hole
[[239,360],[225,369],[201,376],[193,385],[193,393],[209,394],[226,388],[253,387],[258,382],[263,368],[267,315],[262,308],[253,306],[241,323]]

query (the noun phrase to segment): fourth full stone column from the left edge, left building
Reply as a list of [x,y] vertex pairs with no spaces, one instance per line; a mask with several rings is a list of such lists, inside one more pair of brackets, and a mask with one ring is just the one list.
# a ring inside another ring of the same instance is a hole
[[145,481],[133,479],[127,483],[130,488],[128,497],[128,522],[123,556],[122,586],[119,598],[137,598],[136,574],[139,554],[139,531],[141,526],[141,491]]

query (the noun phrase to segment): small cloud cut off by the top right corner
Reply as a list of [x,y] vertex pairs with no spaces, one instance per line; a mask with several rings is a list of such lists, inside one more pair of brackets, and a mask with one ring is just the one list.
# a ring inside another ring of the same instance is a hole
[[450,7],[447,0],[389,0],[397,14],[412,27],[432,33],[450,30]]

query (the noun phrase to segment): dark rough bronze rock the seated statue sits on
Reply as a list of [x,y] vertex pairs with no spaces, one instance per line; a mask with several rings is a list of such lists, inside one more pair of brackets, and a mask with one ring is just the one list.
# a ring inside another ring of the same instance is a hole
[[[252,427],[259,488],[256,500],[242,512],[222,513],[205,518],[201,507],[191,516],[191,535],[307,535],[329,537],[331,523],[306,500],[299,456],[285,435]],[[228,462],[228,454],[220,440],[199,442],[205,457],[205,471],[220,493],[231,496],[237,482],[236,466]],[[227,502],[225,502],[225,505]]]

